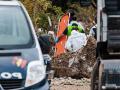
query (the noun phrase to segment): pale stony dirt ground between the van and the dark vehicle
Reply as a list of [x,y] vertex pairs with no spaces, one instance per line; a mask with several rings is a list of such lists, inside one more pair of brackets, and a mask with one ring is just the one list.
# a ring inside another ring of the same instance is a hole
[[55,78],[51,90],[90,90],[90,79]]

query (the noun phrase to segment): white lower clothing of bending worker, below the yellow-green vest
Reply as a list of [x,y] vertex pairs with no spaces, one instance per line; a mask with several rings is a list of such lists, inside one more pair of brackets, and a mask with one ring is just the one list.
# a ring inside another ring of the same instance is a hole
[[79,33],[76,30],[71,32],[65,44],[65,48],[70,52],[76,52],[87,44],[87,37],[85,33]]

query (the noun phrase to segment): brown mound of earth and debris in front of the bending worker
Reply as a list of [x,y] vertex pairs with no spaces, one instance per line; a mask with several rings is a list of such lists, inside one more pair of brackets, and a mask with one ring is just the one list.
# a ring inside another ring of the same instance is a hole
[[96,57],[96,40],[88,38],[87,45],[75,53],[67,52],[52,59],[56,77],[90,77]]

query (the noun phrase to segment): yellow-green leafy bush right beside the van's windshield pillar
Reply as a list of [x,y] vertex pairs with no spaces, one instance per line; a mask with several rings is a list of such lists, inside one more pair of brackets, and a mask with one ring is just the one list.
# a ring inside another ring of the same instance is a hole
[[22,3],[26,6],[35,27],[44,30],[49,30],[48,16],[54,20],[63,13],[61,7],[52,5],[51,0],[22,0]]

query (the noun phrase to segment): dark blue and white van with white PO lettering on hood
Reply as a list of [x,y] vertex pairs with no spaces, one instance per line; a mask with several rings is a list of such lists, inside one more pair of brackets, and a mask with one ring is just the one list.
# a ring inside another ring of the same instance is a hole
[[17,0],[0,0],[0,90],[48,90],[32,21]]

